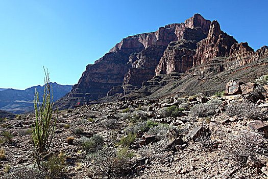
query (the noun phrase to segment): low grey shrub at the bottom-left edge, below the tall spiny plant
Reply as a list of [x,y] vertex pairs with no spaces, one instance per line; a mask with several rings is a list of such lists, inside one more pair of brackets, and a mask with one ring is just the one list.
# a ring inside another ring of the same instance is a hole
[[19,167],[12,169],[3,179],[44,179],[46,173],[32,167]]

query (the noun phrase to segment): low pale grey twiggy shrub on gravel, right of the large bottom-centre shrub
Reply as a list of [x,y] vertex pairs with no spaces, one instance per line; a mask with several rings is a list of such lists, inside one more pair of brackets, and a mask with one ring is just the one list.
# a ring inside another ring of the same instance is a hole
[[138,154],[146,156],[151,160],[156,160],[163,163],[167,158],[165,149],[168,145],[168,140],[160,140],[156,143],[152,143],[151,146],[143,146],[138,150]]

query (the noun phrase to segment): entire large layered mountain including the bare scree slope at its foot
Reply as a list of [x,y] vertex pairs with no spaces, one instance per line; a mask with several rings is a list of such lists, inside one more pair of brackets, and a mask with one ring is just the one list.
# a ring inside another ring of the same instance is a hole
[[267,46],[254,52],[247,42],[238,43],[223,32],[216,20],[194,14],[184,23],[124,38],[87,65],[78,83],[56,105],[64,109],[78,102],[212,93],[224,89],[234,75],[248,82],[266,74],[267,56]]

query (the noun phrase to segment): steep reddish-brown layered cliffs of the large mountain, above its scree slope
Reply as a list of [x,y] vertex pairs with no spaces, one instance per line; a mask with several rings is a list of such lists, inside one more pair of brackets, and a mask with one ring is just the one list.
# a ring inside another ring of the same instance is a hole
[[254,52],[247,42],[237,43],[223,32],[216,20],[211,23],[194,14],[184,23],[124,38],[94,64],[87,65],[79,82],[57,103],[68,108],[107,95],[127,95],[139,88],[144,89],[139,93],[147,95],[146,81],[161,74],[170,76],[165,85],[181,78],[182,74],[174,73],[194,76],[229,71],[266,56],[267,46]]

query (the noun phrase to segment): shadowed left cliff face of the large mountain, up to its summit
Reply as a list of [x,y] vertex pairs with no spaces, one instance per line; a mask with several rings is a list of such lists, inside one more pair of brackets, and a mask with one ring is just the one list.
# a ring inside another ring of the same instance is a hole
[[[141,86],[143,81],[154,76],[156,65],[171,41],[205,38],[209,25],[210,20],[194,14],[185,23],[170,24],[156,32],[124,38],[93,65],[87,65],[78,83],[58,103],[71,101],[70,105],[74,105],[99,99],[106,96],[113,86],[121,84]],[[117,88],[114,90],[118,91]],[[113,90],[108,94],[114,94]]]

